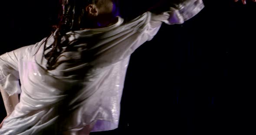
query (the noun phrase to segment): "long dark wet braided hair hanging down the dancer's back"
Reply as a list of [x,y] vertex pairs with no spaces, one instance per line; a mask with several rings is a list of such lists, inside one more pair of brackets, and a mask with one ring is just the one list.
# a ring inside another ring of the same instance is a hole
[[[69,51],[72,48],[72,45],[69,45],[69,40],[63,41],[63,37],[65,37],[66,33],[69,31],[80,30],[81,28],[84,28],[84,26],[88,26],[85,15],[85,6],[97,3],[97,1],[98,0],[59,0],[59,23],[53,26],[52,32],[54,42],[44,49],[45,51],[51,48],[51,50],[44,55],[47,60],[46,67],[48,70],[54,70],[59,64],[66,62],[57,62],[62,53]],[[63,49],[62,47],[66,48]]]

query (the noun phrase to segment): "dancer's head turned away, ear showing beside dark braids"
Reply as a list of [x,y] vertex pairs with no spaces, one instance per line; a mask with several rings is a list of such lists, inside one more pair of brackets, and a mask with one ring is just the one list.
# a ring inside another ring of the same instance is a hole
[[[69,30],[95,28],[98,24],[111,23],[117,14],[117,0],[63,0],[59,25]],[[106,24],[105,24],[106,25]],[[102,27],[102,26],[101,26]]]

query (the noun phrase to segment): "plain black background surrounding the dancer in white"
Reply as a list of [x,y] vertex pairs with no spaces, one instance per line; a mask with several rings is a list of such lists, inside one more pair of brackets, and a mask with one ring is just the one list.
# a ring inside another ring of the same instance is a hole
[[[128,3],[129,12],[133,6],[150,5],[146,0]],[[255,134],[256,3],[204,3],[193,19],[164,24],[135,51],[120,126],[93,135]],[[2,3],[1,10],[0,54],[49,35],[53,1],[12,0]],[[0,119],[5,115],[0,101]]]

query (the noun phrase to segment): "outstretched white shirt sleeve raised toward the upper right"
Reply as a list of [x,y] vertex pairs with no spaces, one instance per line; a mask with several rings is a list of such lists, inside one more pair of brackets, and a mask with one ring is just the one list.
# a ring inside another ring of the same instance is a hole
[[102,34],[96,45],[86,52],[86,58],[90,58],[89,65],[102,68],[124,60],[144,42],[153,39],[162,23],[184,23],[203,9],[202,0],[180,1],[181,3],[170,4],[168,11],[157,14],[146,12]]

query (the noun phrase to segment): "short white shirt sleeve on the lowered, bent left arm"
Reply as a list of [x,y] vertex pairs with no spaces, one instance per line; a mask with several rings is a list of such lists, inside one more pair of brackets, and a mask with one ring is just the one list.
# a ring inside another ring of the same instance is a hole
[[25,47],[0,55],[0,86],[9,96],[20,93],[19,59]]

